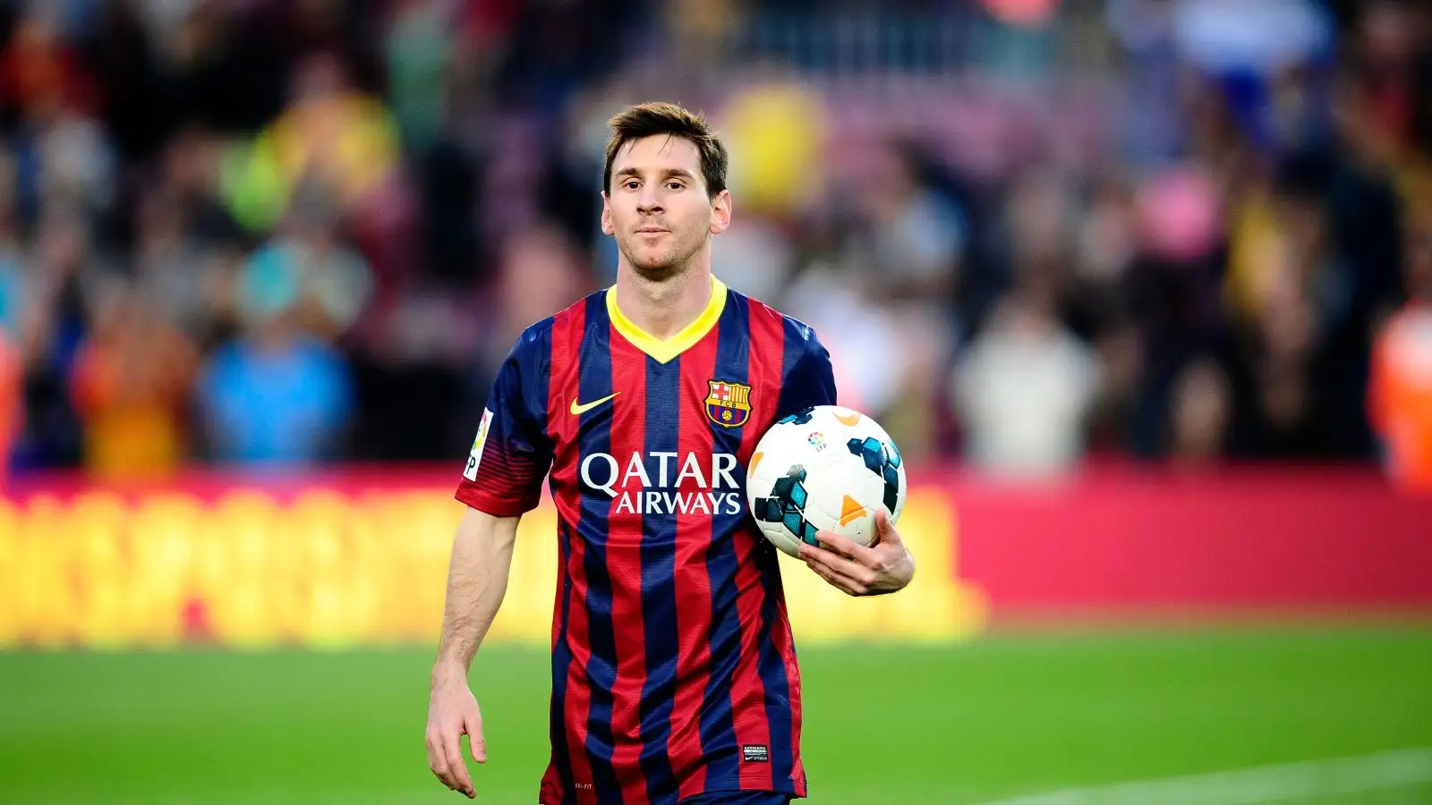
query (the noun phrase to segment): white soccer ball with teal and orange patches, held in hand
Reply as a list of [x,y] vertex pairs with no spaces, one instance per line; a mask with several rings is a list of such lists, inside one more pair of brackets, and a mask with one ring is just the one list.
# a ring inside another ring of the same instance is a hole
[[816,531],[875,541],[875,511],[905,507],[905,463],[875,420],[816,405],[770,425],[746,467],[746,501],[760,533],[790,556]]

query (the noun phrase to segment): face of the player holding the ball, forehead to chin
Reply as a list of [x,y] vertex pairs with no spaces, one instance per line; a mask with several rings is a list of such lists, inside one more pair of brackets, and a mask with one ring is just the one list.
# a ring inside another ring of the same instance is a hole
[[674,136],[624,145],[611,165],[603,196],[601,231],[617,239],[621,256],[647,279],[667,279],[686,268],[712,235],[730,225],[730,193],[706,195],[696,146]]

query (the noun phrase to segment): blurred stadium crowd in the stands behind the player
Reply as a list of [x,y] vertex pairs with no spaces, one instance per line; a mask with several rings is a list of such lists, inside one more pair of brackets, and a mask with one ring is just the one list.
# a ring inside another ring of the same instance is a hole
[[1425,403],[1369,408],[1432,299],[1429,32],[1390,0],[13,0],[4,447],[460,457],[521,328],[613,279],[604,120],[666,99],[733,152],[717,275],[912,458],[1375,460]]

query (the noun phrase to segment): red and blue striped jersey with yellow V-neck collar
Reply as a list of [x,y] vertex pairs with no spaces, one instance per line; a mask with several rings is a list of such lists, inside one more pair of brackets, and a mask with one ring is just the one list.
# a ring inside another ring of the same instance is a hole
[[800,676],[776,550],[745,467],[778,418],[835,403],[812,329],[712,281],[657,341],[600,291],[528,328],[498,371],[457,498],[558,516],[551,762],[540,802],[805,796]]

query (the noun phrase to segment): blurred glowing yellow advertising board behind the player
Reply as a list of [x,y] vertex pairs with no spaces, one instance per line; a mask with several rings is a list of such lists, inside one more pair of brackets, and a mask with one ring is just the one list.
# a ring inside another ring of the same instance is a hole
[[[435,646],[463,506],[434,473],[192,477],[96,490],[40,484],[0,501],[0,647]],[[916,486],[901,526],[929,570],[855,600],[785,561],[805,642],[948,642],[984,622],[957,582],[948,496]],[[523,519],[490,640],[547,645],[556,513]]]

